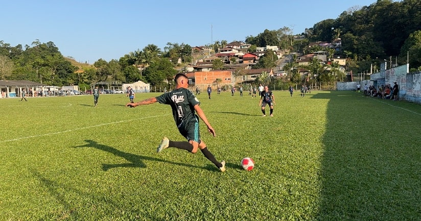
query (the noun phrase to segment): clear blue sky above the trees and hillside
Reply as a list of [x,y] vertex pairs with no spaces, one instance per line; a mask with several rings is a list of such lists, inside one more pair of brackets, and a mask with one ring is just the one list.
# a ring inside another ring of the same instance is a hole
[[49,41],[63,56],[92,64],[120,59],[148,44],[191,46],[244,41],[265,29],[294,34],[376,0],[159,1],[11,0],[1,4],[0,40],[11,46]]

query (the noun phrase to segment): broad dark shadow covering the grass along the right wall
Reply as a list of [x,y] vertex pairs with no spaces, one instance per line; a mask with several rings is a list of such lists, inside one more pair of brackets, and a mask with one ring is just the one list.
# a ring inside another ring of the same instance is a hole
[[[419,136],[416,123],[398,108],[387,107],[382,115],[383,104],[351,91],[319,92],[312,98],[329,100],[315,219],[419,220],[420,161],[411,145]],[[408,122],[394,123],[399,117]],[[408,131],[405,127],[414,134],[400,135]]]

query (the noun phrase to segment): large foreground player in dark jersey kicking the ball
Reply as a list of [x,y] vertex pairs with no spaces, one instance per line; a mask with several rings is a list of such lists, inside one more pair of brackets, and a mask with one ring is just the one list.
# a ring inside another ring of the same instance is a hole
[[[166,148],[178,148],[196,153],[198,149],[205,155],[205,157],[213,162],[222,172],[225,171],[225,161],[218,162],[214,155],[209,152],[206,144],[200,139],[199,133],[199,117],[207,126],[207,131],[215,137],[215,130],[210,126],[207,118],[200,108],[199,100],[188,89],[189,82],[187,76],[183,73],[178,73],[174,79],[176,89],[168,93],[164,93],[157,97],[150,97],[149,99],[139,101],[136,103],[128,103],[128,107],[136,107],[138,105],[147,105],[159,102],[160,104],[167,104],[173,110],[173,117],[178,131],[188,141],[172,141],[167,137],[163,137],[161,143],[158,145],[156,152],[161,152]],[[197,115],[195,114],[197,113]]]

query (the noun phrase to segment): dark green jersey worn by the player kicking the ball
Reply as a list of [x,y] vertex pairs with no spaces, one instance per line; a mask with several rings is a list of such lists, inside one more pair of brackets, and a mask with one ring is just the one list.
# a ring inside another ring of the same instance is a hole
[[194,106],[199,105],[200,102],[190,90],[178,88],[155,98],[160,104],[171,106],[177,127],[182,122],[196,121]]

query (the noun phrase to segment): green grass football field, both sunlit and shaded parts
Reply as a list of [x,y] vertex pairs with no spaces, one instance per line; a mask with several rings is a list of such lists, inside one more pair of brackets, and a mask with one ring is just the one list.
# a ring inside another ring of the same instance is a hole
[[420,220],[420,105],[274,94],[274,117],[247,92],[198,95],[225,173],[200,151],[156,153],[163,136],[184,140],[167,105],[0,99],[0,220]]

